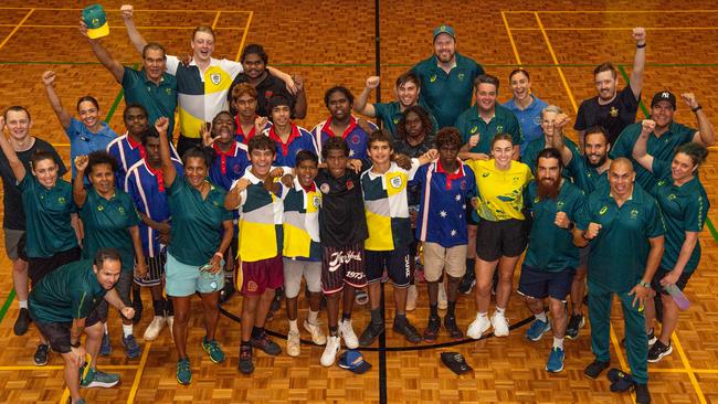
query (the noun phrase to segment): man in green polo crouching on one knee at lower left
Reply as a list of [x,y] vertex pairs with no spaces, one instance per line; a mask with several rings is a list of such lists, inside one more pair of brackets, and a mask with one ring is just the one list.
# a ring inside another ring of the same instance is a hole
[[[135,310],[123,304],[114,289],[122,270],[122,261],[115,249],[99,249],[94,259],[76,261],[61,266],[38,281],[30,293],[30,317],[47,339],[53,351],[65,360],[65,383],[72,403],[84,403],[80,386],[112,387],[119,383],[118,374],[97,370],[96,358],[103,338],[103,323],[96,311],[106,300],[133,318]],[[83,332],[87,336],[82,345]],[[92,357],[85,363],[85,354]],[[89,370],[80,380],[81,369]]]

